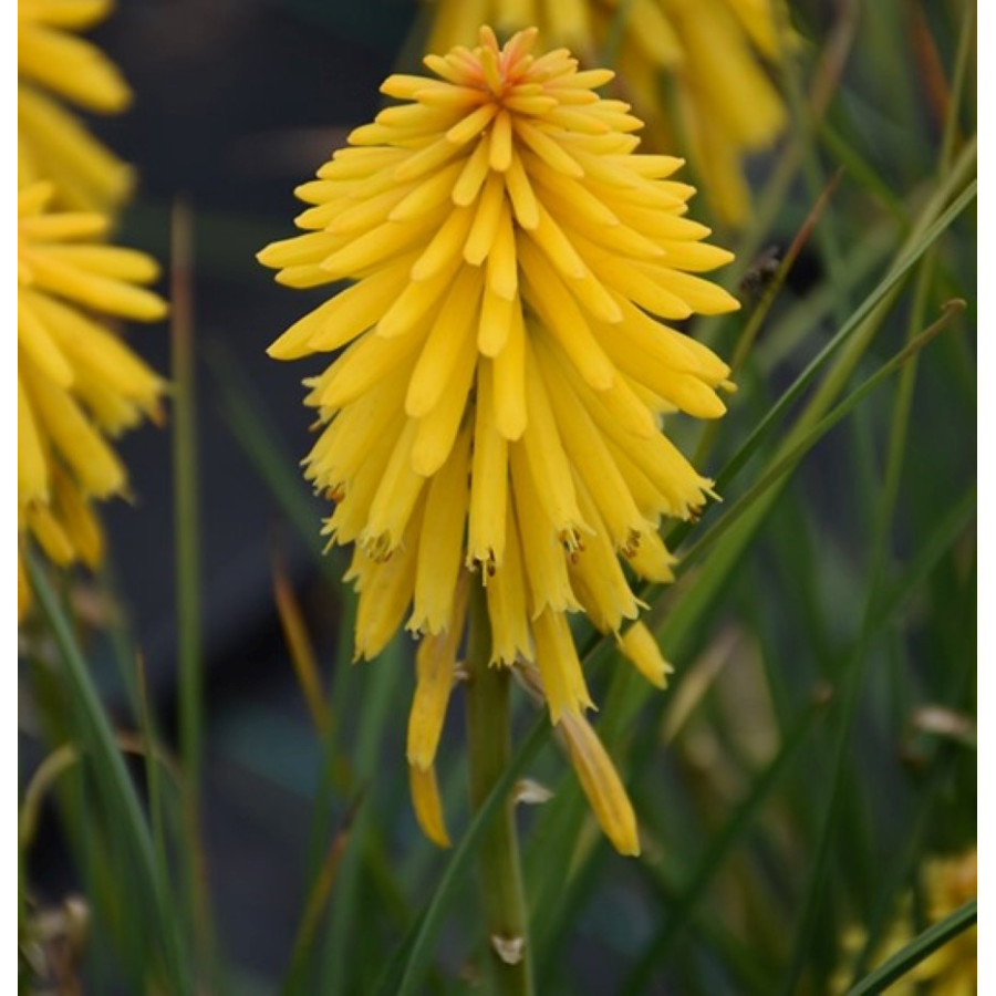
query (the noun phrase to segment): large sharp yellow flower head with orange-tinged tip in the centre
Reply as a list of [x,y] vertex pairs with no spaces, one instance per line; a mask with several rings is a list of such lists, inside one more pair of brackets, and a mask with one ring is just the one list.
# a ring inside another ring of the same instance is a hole
[[611,72],[533,54],[535,39],[499,48],[485,28],[477,48],[427,56],[433,77],[384,83],[403,103],[298,188],[307,234],[260,253],[290,287],[354,283],[270,353],[345,347],[307,382],[323,428],[305,473],[335,502],[330,542],[355,544],[357,656],[402,624],[422,637],[416,800],[483,585],[491,663],[536,673],[603,826],[635,851],[621,784],[590,749],[569,616],[621,633],[640,609],[631,575],[672,577],[660,521],[693,515],[710,481],[661,418],[722,415],[728,370],[661,319],[737,303],[697,276],[730,255],[686,217],[681,160],[635,153],[641,122],[595,93]]

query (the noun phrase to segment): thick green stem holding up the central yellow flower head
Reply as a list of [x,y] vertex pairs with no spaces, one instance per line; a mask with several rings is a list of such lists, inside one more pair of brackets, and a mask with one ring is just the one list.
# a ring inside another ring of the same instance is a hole
[[[477,812],[511,757],[511,674],[489,667],[491,627],[484,592],[470,599],[467,644],[467,740],[470,755],[470,805]],[[526,892],[516,836],[515,801],[485,831],[479,857],[488,962],[494,992],[502,996],[532,993],[531,952]]]

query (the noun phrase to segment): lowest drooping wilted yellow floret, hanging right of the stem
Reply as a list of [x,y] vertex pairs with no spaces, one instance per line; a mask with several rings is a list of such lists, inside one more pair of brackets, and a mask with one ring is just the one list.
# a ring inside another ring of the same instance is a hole
[[640,853],[636,813],[598,734],[583,716],[566,715],[561,729],[571,764],[599,826],[620,854],[636,857]]

